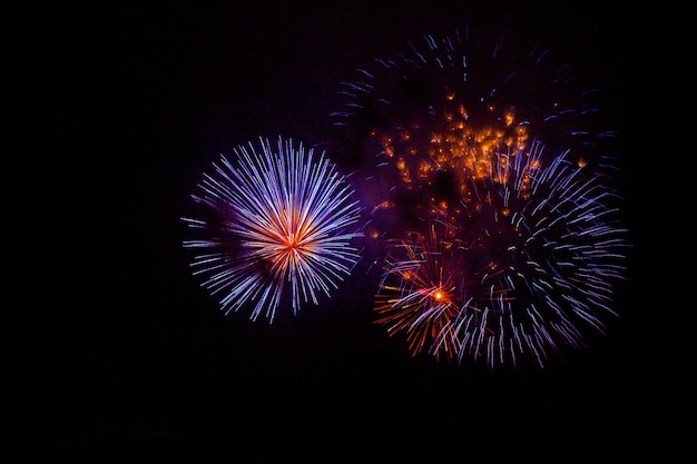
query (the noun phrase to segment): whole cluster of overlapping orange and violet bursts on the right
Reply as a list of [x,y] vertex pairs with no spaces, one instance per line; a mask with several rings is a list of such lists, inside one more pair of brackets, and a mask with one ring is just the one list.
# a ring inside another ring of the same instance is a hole
[[375,320],[414,355],[544,366],[618,316],[616,134],[568,67],[507,47],[428,36],[343,82],[332,115],[365,171]]

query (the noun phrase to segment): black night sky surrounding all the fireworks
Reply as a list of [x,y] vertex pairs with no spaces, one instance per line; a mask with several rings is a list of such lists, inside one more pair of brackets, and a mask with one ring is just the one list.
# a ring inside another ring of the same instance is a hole
[[[6,18],[8,462],[586,463],[652,452],[647,379],[664,355],[639,290],[651,286],[661,213],[646,224],[640,211],[660,209],[638,179],[650,144],[640,113],[655,98],[645,62],[662,24],[601,2],[237,3]],[[181,249],[202,170],[259,136],[321,142],[353,69],[468,23],[553,46],[611,96],[635,248],[608,335],[547,369],[490,371],[411,357],[371,324],[371,295],[274,325],[220,314]]]

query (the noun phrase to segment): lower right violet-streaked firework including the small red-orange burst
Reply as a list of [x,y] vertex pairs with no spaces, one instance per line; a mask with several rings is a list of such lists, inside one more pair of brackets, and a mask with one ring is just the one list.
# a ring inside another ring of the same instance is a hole
[[[494,158],[471,177],[458,226],[394,240],[376,298],[376,323],[403,332],[413,353],[462,362],[539,366],[548,353],[605,333],[624,279],[621,198],[606,178],[566,155],[542,166],[541,147]],[[435,225],[439,225],[436,228]]]

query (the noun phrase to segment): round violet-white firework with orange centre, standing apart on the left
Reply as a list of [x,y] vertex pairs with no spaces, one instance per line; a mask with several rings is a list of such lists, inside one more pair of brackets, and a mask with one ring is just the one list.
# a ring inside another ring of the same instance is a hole
[[325,154],[278,138],[248,142],[222,156],[193,195],[203,208],[198,218],[184,218],[203,234],[187,240],[199,251],[194,275],[219,297],[225,314],[253,306],[273,322],[289,299],[295,315],[301,305],[331,296],[350,275],[360,255],[352,230],[360,207],[353,190]]

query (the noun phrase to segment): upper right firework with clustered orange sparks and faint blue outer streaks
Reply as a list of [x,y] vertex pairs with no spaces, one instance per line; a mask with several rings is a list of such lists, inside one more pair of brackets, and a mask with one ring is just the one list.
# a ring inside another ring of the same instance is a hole
[[601,129],[600,92],[510,34],[491,42],[468,31],[426,36],[359,70],[340,93],[335,140],[365,174],[369,236],[384,240],[405,221],[459,214],[468,179],[488,176],[502,149],[530,151],[541,140],[547,152],[569,150],[597,167],[616,140]]

